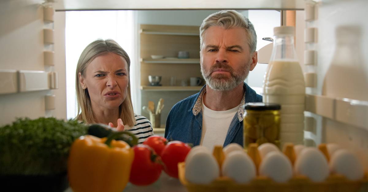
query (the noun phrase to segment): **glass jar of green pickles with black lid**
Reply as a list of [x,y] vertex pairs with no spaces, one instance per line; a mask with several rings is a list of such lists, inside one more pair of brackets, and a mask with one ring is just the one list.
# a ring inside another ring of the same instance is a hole
[[279,104],[247,103],[243,115],[243,146],[248,149],[251,143],[261,145],[269,142],[280,148],[280,109]]

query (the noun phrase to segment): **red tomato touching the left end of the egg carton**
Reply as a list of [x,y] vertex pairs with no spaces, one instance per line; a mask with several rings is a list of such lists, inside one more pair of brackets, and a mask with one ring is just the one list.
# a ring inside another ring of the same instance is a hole
[[164,171],[171,177],[178,178],[178,163],[184,162],[190,151],[190,146],[181,141],[170,141],[161,153]]

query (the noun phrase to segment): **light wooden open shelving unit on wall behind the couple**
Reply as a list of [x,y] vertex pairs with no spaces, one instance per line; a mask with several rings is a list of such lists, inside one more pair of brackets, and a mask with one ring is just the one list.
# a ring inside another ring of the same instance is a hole
[[[141,90],[198,91],[189,84],[190,77],[201,77],[199,65],[199,26],[141,25]],[[177,58],[179,51],[189,52],[189,58]],[[163,58],[151,59],[151,55]],[[149,86],[148,76],[162,76],[162,86]],[[170,86],[170,79],[176,79]],[[185,83],[184,83],[185,84]]]

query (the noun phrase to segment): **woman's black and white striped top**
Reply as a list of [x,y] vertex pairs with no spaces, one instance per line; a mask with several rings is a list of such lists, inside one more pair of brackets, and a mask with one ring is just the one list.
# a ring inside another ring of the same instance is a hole
[[152,124],[149,120],[141,115],[134,114],[136,124],[133,127],[125,126],[125,131],[130,131],[138,138],[138,142],[142,143],[147,137],[153,135]]

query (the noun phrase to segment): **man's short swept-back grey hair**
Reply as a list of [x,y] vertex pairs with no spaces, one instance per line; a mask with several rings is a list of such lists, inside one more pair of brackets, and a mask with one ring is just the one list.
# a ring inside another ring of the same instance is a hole
[[254,30],[253,24],[248,18],[245,18],[242,14],[234,10],[222,10],[209,15],[202,22],[199,28],[199,37],[201,40],[201,49],[203,44],[203,34],[204,32],[212,26],[219,26],[223,29],[232,28],[244,28],[248,34],[248,45],[250,52],[254,52],[257,46],[257,35]]

